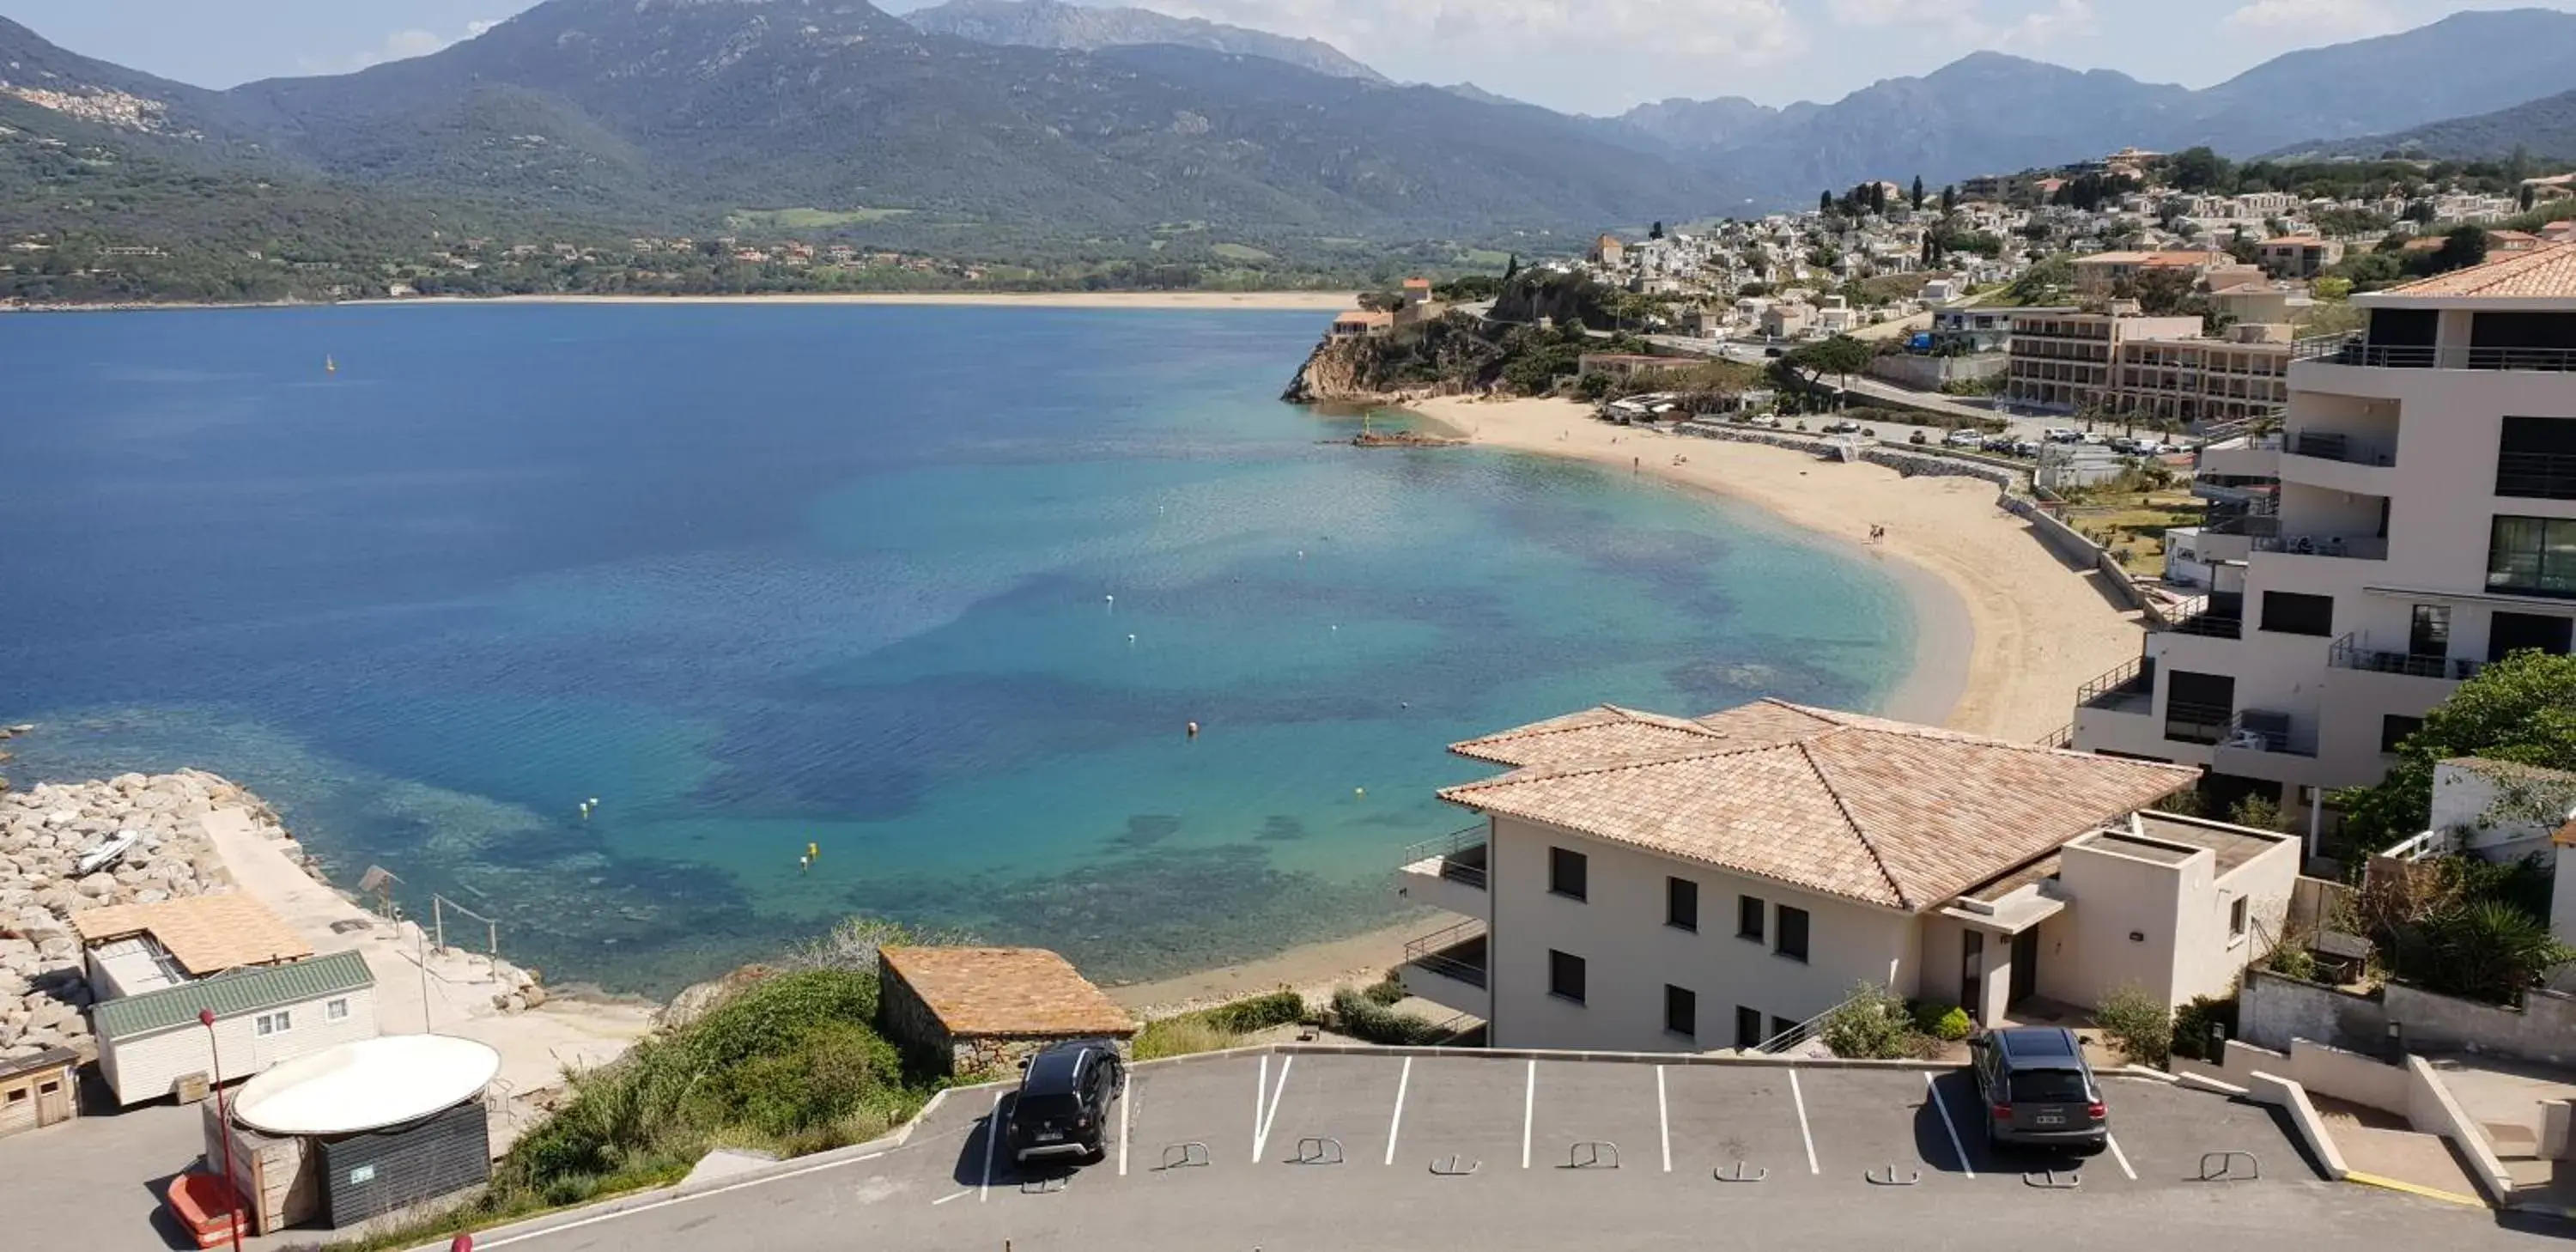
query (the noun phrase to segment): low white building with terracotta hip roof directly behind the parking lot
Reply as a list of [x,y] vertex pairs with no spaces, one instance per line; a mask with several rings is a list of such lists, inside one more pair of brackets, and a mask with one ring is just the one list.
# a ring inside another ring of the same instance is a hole
[[1757,701],[1600,706],[1450,747],[1510,773],[1406,850],[1461,915],[1406,948],[1412,994],[1507,1048],[1716,1051],[1855,984],[2002,1023],[2032,997],[2215,994],[2298,878],[2282,835],[2141,811],[2195,770]]

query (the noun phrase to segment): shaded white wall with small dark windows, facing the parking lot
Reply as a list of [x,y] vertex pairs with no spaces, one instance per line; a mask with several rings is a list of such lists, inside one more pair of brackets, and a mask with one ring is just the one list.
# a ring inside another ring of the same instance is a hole
[[[1584,853],[1587,899],[1548,891],[1548,848]],[[1649,855],[1512,817],[1494,819],[1492,1041],[1504,1048],[1731,1048],[1736,1007],[1806,1020],[1852,984],[1917,992],[1919,927],[1891,909]],[[1664,878],[1700,884],[1700,930],[1664,925]],[[1765,902],[1762,943],[1736,938],[1736,896]],[[1808,912],[1808,958],[1775,953],[1780,904]],[[1584,958],[1584,1002],[1548,994],[1548,951]],[[1958,948],[1950,951],[1955,963]],[[1664,987],[1698,997],[1692,1038],[1664,1030]]]

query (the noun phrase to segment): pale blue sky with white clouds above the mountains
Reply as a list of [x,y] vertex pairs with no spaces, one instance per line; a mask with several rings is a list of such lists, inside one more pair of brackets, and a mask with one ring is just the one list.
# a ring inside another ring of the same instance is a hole
[[[2465,8],[2535,5],[2576,8],[2576,0],[1141,0],[1139,8],[1316,36],[1406,82],[1463,80],[1551,108],[1618,113],[1672,95],[1834,100],[1978,49],[2208,88],[2290,49],[2403,31]],[[526,0],[0,0],[0,15],[54,44],[201,88],[420,57],[523,8]]]

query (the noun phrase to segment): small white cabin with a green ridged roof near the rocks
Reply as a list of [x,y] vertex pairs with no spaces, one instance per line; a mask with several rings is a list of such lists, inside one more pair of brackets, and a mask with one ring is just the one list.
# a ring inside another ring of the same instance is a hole
[[[198,1023],[214,1010],[214,1038]],[[358,953],[240,966],[90,1007],[98,1074],[118,1105],[196,1097],[294,1056],[376,1038],[376,974]]]

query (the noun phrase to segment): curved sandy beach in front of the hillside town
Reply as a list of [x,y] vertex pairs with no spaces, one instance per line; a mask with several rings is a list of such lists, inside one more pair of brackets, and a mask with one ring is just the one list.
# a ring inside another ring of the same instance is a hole
[[[1906,479],[1886,466],[1826,464],[1759,443],[1641,433],[1566,399],[1461,397],[1417,410],[1476,443],[1636,466],[1731,495],[1888,562],[1922,605],[1922,659],[1893,716],[2038,739],[2069,721],[2079,685],[2138,657],[2138,613],[2115,605],[2099,574],[2069,569],[2030,536],[2030,523],[1999,510],[1989,482]],[[1674,456],[1690,461],[1677,466]],[[1870,526],[1888,528],[1883,544],[1865,544]],[[1955,608],[1922,595],[1924,574]],[[1965,631],[1955,629],[1955,613],[1965,616]],[[1953,701],[1940,698],[1945,688]],[[1942,703],[1947,716],[1937,716]]]

